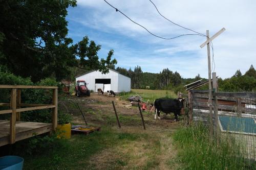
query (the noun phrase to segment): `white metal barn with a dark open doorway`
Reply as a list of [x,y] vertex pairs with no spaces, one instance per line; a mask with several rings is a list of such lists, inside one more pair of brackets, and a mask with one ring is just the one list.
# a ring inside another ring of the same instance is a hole
[[114,92],[131,91],[131,78],[110,68],[107,74],[92,70],[75,78],[76,81],[85,80],[89,90],[97,91],[98,88],[101,88],[104,92],[108,90],[113,90]]

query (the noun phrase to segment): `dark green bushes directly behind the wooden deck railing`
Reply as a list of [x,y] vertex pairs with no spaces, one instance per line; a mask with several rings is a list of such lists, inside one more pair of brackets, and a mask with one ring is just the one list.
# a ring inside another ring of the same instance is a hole
[[[40,82],[33,83],[30,78],[22,78],[15,76],[9,72],[0,71],[0,84],[7,85],[40,85],[40,86],[60,86],[55,79],[46,78]],[[60,87],[59,87],[60,88]],[[61,89],[61,88],[60,88]],[[61,91],[61,90],[60,90]],[[10,89],[0,89],[1,98],[0,103],[10,102]],[[29,104],[51,104],[52,103],[52,89],[22,89],[22,103]],[[1,110],[8,109],[8,107],[1,106]],[[0,119],[9,119],[10,114],[1,114]],[[27,111],[21,114],[21,120],[27,122],[52,122],[52,109],[42,109]],[[70,118],[66,114],[59,114],[58,119],[67,121]]]

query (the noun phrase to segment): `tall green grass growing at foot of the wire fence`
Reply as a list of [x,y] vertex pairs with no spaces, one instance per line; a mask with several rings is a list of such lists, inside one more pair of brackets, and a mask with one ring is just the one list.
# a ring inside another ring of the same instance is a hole
[[243,143],[227,136],[218,144],[203,124],[178,129],[173,138],[182,169],[255,169],[245,157]]

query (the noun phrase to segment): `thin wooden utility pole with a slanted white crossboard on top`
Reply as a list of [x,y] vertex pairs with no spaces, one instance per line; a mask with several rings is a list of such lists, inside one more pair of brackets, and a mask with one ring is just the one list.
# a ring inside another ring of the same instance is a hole
[[221,33],[225,31],[225,28],[222,28],[212,37],[209,37],[209,30],[206,30],[206,41],[200,45],[203,48],[207,44],[207,56],[208,56],[208,81],[209,81],[209,116],[210,116],[210,137],[213,135],[213,124],[212,124],[212,87],[211,87],[211,69],[210,69],[210,42],[218,37]]

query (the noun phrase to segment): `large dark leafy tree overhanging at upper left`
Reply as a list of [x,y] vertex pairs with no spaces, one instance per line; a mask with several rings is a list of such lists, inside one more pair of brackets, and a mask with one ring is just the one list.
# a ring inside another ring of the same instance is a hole
[[82,67],[96,66],[108,72],[105,66],[116,63],[111,60],[113,50],[105,60],[96,61],[100,45],[93,41],[89,44],[88,37],[71,45],[66,16],[67,8],[75,6],[75,0],[1,1],[0,63],[15,75],[31,77],[33,82],[45,77],[62,79],[70,73],[69,67],[78,66],[76,57]]

